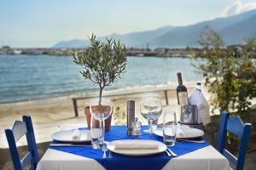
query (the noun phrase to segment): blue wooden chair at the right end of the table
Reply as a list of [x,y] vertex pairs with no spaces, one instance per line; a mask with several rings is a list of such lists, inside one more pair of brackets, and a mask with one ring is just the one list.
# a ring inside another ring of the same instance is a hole
[[[218,151],[235,165],[236,170],[243,169],[251,127],[252,125],[250,123],[243,123],[240,117],[230,118],[230,114],[226,112],[221,114],[218,129]],[[235,134],[240,139],[239,153],[237,158],[225,149],[228,131]]]

